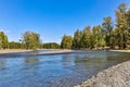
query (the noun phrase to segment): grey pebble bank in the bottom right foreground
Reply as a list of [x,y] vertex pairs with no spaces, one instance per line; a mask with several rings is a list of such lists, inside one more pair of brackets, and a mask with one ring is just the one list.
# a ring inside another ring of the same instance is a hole
[[108,67],[75,87],[130,87],[130,61]]

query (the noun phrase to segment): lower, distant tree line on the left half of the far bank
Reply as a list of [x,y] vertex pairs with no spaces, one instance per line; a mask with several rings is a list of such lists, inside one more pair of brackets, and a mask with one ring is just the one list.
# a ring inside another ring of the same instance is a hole
[[9,41],[8,36],[0,32],[0,49],[60,49],[56,42],[42,44],[40,35],[34,32],[25,32],[20,41]]

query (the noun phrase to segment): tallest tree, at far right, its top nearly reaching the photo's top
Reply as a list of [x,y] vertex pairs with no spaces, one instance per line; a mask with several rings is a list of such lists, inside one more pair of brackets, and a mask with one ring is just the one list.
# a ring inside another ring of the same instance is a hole
[[126,3],[121,3],[116,11],[116,27],[117,27],[117,36],[120,41],[118,41],[118,46],[120,49],[127,48],[128,44],[128,23],[127,23],[127,5]]

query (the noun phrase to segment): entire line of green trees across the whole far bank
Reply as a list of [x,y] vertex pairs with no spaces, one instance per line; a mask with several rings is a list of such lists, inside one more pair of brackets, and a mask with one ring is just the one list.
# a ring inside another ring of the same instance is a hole
[[0,32],[0,49],[130,49],[130,8],[121,3],[115,14],[115,21],[107,16],[101,25],[77,29],[74,36],[64,35],[61,45],[42,44],[40,35],[34,32],[25,32],[18,42],[9,41]]

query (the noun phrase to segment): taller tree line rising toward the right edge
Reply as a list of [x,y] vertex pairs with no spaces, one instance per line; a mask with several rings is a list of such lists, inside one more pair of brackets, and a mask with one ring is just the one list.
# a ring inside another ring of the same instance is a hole
[[[130,8],[119,4],[115,11],[116,20],[104,17],[98,26],[77,29],[74,37],[64,35],[63,49],[130,49]],[[114,23],[115,22],[115,23]]]

